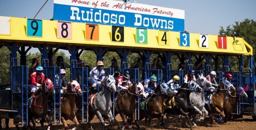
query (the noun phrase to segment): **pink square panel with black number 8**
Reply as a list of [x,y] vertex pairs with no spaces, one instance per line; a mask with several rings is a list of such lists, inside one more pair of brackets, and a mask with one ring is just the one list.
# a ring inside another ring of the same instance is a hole
[[57,38],[72,39],[72,23],[58,21]]

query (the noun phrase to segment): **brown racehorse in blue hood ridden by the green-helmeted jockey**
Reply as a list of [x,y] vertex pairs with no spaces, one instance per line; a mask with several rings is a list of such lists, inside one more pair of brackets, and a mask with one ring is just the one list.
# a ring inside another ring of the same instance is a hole
[[[160,85],[161,84],[161,85]],[[147,118],[149,118],[149,125],[150,121],[153,118],[158,118],[161,120],[161,125],[164,124],[164,96],[167,94],[168,96],[172,96],[172,90],[165,85],[165,83],[161,83],[156,87],[155,92],[152,96],[147,99],[146,104],[144,105],[144,110],[140,110],[140,119],[142,120],[145,118],[147,123]]]

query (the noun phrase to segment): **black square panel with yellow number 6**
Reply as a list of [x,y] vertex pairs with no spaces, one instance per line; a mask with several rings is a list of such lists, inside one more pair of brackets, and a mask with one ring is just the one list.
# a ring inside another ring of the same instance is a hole
[[124,27],[112,26],[111,41],[124,42]]

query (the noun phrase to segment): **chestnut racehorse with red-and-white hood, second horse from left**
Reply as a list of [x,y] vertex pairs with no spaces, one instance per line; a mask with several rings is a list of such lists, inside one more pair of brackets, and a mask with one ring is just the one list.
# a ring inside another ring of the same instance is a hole
[[76,118],[76,105],[75,96],[81,96],[82,91],[80,85],[76,80],[70,80],[70,84],[67,85],[67,89],[64,91],[65,95],[61,99],[61,122],[64,124],[65,129],[68,129],[66,120],[73,121],[76,126],[72,130],[75,130],[79,126],[79,122]]

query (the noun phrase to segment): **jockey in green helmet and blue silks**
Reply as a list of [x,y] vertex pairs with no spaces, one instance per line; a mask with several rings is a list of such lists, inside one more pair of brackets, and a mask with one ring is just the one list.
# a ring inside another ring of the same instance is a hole
[[[157,81],[157,78],[155,75],[152,75],[150,78],[147,78],[145,79],[143,82],[142,82],[142,85],[144,86],[144,90],[146,90],[146,96],[148,96],[149,94],[153,94],[156,89],[156,81]],[[150,89],[150,88],[153,88],[154,87],[154,90]]]

